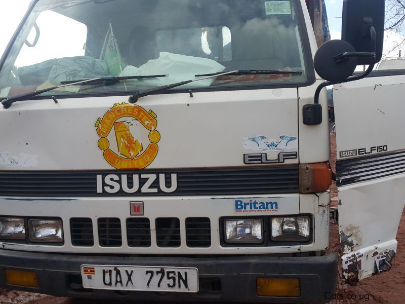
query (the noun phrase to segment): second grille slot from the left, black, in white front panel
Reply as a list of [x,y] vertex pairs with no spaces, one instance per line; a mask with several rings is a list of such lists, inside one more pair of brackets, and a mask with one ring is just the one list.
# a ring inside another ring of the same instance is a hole
[[123,244],[121,221],[116,217],[98,219],[98,240],[103,247],[119,247]]

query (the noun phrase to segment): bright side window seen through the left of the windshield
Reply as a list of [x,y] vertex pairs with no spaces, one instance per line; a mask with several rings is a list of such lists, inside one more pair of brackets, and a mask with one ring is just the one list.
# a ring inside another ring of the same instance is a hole
[[85,55],[87,26],[53,11],[42,12],[22,47],[16,67]]

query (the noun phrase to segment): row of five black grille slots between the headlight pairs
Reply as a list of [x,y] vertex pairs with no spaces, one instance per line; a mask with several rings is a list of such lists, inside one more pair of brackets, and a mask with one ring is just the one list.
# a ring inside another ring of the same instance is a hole
[[[119,247],[122,244],[119,218],[98,219],[99,244],[103,247]],[[150,220],[145,217],[127,218],[127,242],[129,247],[150,247]],[[160,217],[155,220],[156,244],[158,247],[179,247],[181,244],[180,220],[175,217]],[[185,221],[188,247],[211,246],[211,222],[208,217],[189,217]],[[73,246],[93,246],[93,223],[91,218],[71,218],[70,235]]]

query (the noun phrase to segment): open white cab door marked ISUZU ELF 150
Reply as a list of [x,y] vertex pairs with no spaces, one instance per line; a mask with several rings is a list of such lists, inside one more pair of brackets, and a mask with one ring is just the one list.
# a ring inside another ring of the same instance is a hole
[[333,87],[343,278],[395,265],[405,203],[405,70]]

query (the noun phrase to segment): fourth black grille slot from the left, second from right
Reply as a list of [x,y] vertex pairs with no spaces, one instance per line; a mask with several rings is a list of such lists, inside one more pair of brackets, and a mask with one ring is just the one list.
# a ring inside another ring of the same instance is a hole
[[180,220],[176,217],[156,218],[158,247],[180,247]]

